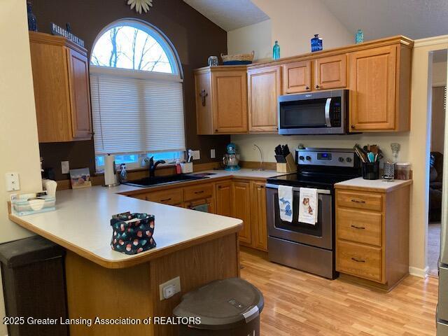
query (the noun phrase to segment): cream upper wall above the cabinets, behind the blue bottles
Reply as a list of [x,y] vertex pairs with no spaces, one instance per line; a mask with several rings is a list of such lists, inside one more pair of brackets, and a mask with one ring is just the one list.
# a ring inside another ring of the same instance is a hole
[[[270,18],[267,22],[228,32],[230,54],[255,50],[257,59],[272,57],[272,46],[278,40],[281,57],[311,51],[314,34],[323,38],[323,49],[351,44],[356,31],[347,31],[320,0],[252,0]],[[270,36],[270,41],[268,36]],[[266,55],[266,56],[264,56]]]

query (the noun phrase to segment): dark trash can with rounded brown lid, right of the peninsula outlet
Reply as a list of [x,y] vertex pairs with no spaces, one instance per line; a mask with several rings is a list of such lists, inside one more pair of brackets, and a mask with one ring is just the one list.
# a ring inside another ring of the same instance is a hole
[[[174,315],[181,322],[180,336],[258,336],[264,305],[258,288],[232,278],[213,281],[183,295]],[[189,323],[184,324],[186,321]]]

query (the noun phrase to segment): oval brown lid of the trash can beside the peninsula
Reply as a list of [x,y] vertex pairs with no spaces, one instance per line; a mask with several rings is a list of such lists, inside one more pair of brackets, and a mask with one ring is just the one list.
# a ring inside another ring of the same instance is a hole
[[263,295],[251,283],[239,278],[217,280],[183,295],[174,308],[178,317],[199,317],[200,329],[227,329],[258,317],[264,307]]

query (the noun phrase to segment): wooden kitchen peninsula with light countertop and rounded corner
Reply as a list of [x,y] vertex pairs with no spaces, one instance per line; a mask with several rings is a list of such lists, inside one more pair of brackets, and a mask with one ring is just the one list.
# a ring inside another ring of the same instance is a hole
[[[215,279],[239,276],[242,221],[118,195],[132,186],[57,193],[57,210],[11,221],[66,248],[69,318],[172,316],[181,295]],[[137,255],[111,250],[113,214],[155,215],[157,247]],[[180,276],[181,293],[160,300],[159,285]],[[70,325],[70,335],[174,335],[174,325]]]

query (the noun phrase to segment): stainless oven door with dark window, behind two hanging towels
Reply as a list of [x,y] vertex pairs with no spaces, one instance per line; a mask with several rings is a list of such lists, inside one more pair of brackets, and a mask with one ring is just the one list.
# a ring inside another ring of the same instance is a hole
[[293,221],[282,221],[279,213],[278,186],[266,184],[267,232],[276,237],[301,244],[332,250],[332,195],[330,190],[318,190],[317,223],[301,223],[299,219],[300,188],[293,188]]

